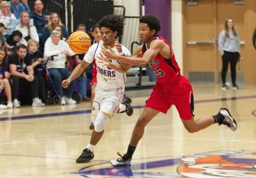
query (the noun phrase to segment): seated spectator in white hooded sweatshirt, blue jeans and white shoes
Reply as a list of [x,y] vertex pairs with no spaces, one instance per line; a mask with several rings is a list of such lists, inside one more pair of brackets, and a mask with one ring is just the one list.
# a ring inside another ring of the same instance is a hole
[[66,68],[66,56],[75,55],[68,47],[68,44],[61,40],[61,33],[57,30],[51,32],[51,39],[45,43],[44,61],[47,61],[46,68],[50,73],[53,84],[61,97],[61,105],[76,104],[71,98],[73,92],[73,83],[68,88],[62,88],[62,80],[70,77],[71,72]]

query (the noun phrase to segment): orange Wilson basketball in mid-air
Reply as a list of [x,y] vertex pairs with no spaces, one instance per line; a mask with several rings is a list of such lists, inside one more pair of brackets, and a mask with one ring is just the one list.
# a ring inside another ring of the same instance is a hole
[[73,32],[68,38],[68,46],[76,54],[86,53],[91,47],[91,38],[85,32]]

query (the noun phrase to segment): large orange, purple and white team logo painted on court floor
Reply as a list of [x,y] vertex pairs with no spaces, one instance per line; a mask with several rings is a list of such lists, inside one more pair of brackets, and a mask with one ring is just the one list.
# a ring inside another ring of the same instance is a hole
[[[99,166],[105,168],[97,169],[96,167]],[[177,171],[167,173],[166,171],[151,171],[157,170],[157,168],[168,168],[168,166],[176,166]],[[71,174],[78,174],[83,177],[256,178],[256,151],[215,151],[141,163],[138,163],[138,160],[132,160],[131,166],[121,167],[112,167],[108,162],[84,167]]]

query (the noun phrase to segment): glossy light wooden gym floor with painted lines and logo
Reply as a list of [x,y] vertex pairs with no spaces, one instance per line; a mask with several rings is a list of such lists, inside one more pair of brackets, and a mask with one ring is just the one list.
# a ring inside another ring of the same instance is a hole
[[[218,124],[189,134],[175,107],[146,127],[131,166],[112,167],[124,154],[148,97],[132,97],[134,114],[107,123],[94,159],[76,164],[90,141],[90,103],[22,106],[0,110],[0,177],[256,177],[256,87],[221,91],[220,85],[194,84],[195,118],[230,110],[234,133]],[[129,95],[129,93],[127,93]]]

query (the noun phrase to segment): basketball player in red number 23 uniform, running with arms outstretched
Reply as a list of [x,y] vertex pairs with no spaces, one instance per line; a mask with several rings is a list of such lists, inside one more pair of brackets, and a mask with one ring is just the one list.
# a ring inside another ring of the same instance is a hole
[[121,158],[111,160],[114,166],[131,164],[132,155],[144,134],[145,126],[160,111],[166,114],[171,105],[176,106],[189,133],[205,129],[214,123],[224,124],[232,131],[237,129],[236,121],[225,108],[220,108],[219,113],[214,116],[194,120],[192,87],[188,79],[180,74],[171,45],[163,37],[156,35],[160,27],[160,21],[156,16],[142,16],[140,17],[140,40],[143,44],[135,50],[131,58],[116,55],[111,48],[104,50],[103,54],[106,58],[101,55],[104,65],[109,65],[109,59],[141,67],[149,64],[157,77],[150,98],[132,132],[127,153],[122,156],[117,152]]

